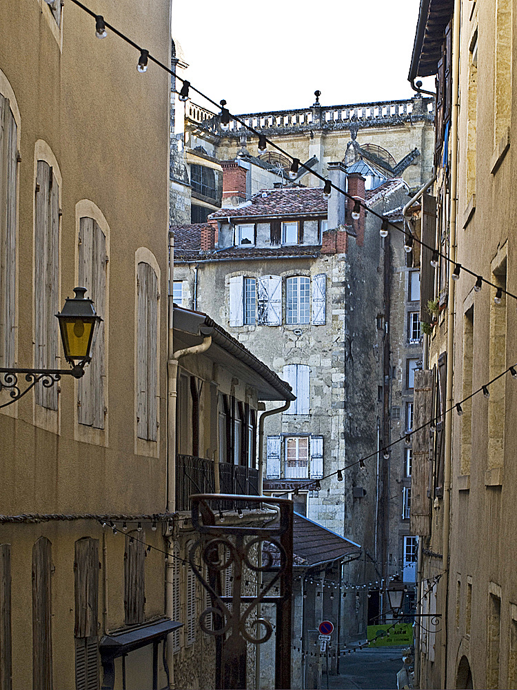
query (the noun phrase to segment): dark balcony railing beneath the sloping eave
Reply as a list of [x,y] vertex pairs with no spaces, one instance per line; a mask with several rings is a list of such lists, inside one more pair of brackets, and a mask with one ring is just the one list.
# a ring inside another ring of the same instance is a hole
[[[221,493],[259,495],[259,471],[253,467],[219,464]],[[176,511],[190,511],[193,493],[215,493],[214,461],[193,455],[176,455]],[[231,505],[216,506],[231,510]]]

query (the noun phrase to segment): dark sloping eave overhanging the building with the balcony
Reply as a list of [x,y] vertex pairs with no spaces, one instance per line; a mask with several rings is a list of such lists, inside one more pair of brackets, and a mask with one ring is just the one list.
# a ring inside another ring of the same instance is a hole
[[289,384],[206,314],[174,305],[172,325],[174,350],[199,345],[211,335],[212,345],[203,357],[226,366],[236,377],[254,386],[259,400],[296,400]]

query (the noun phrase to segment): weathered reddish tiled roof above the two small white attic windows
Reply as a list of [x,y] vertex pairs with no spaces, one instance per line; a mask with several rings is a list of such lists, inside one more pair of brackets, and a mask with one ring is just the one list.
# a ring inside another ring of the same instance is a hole
[[254,216],[288,216],[301,214],[327,214],[327,201],[319,187],[284,187],[265,189],[254,194],[251,204],[235,208],[221,208],[211,218],[236,218]]

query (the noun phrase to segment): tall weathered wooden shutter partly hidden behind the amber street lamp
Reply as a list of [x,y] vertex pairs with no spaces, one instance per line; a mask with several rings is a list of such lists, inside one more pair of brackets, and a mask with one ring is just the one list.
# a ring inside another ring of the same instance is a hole
[[[93,218],[79,221],[79,284],[88,290],[95,311],[104,319],[106,296],[106,239]],[[92,361],[78,386],[78,420],[94,428],[104,428],[104,322],[97,326]]]

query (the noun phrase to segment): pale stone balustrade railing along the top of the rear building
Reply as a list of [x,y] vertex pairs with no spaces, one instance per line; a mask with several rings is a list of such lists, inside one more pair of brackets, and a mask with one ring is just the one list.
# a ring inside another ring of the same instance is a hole
[[[197,107],[192,103],[192,108]],[[416,96],[403,101],[378,101],[331,107],[317,105],[298,110],[252,112],[239,115],[239,118],[255,130],[281,130],[282,132],[313,128],[349,129],[350,125],[353,126],[353,124],[356,124],[358,128],[374,127],[396,124],[398,121],[423,119],[432,121],[434,118],[434,99]],[[210,118],[197,121],[202,124],[203,128],[221,134],[218,117],[213,117],[210,114]],[[239,135],[244,129],[239,122],[232,120],[227,135]]]

